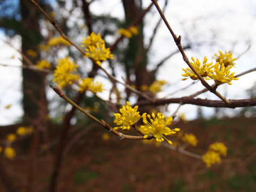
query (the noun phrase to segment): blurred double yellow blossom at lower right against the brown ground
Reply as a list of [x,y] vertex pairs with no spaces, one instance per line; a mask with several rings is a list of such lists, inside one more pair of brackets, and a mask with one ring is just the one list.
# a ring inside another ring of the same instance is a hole
[[215,163],[221,163],[220,155],[227,155],[227,147],[222,142],[214,142],[209,146],[207,153],[202,155],[202,159],[206,167],[211,167]]

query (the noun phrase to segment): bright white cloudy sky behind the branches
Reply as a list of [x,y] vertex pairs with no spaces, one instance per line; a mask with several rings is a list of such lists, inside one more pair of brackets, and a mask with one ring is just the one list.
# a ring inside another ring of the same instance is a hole
[[[158,1],[163,5],[163,0]],[[144,0],[144,6],[148,6],[151,1]],[[152,9],[155,10],[155,7]],[[95,1],[91,5],[91,11],[97,14],[109,13],[115,17],[124,18],[122,3],[120,0],[99,0]],[[207,56],[209,60],[212,59],[212,55],[218,50],[221,51],[233,51],[234,55],[239,55],[244,52],[249,45],[251,48],[246,54],[244,54],[239,60],[237,65],[232,71],[236,74],[242,73],[245,70],[256,67],[256,3],[253,0],[216,0],[216,1],[185,1],[185,0],[173,0],[169,1],[165,13],[166,19],[169,21],[174,33],[182,36],[182,42],[185,43],[186,39],[190,39],[191,42],[200,43],[198,49],[187,51],[188,58],[198,58],[202,60],[204,56]],[[155,11],[150,13],[146,17],[145,35],[146,38],[150,37],[152,33],[152,27],[159,18],[158,13]],[[213,34],[215,37],[213,38]],[[3,34],[0,34],[1,38],[5,38]],[[214,41],[214,46],[210,46],[209,43]],[[19,47],[19,38],[12,39],[15,47]],[[146,41],[147,42],[147,41]],[[5,45],[0,40],[0,63],[6,65],[21,65],[18,59],[10,59],[12,55],[18,55],[10,46]],[[183,44],[184,45],[184,44]],[[153,51],[150,55],[150,67],[154,67],[154,64],[164,58],[169,53],[177,50],[173,39],[167,30],[166,26],[162,23],[161,29],[157,34],[157,38],[154,42]],[[18,58],[18,56],[16,56]],[[103,67],[106,66],[103,63]],[[171,86],[167,87],[165,94],[179,90],[180,87],[184,87],[191,83],[191,80],[180,81],[181,68],[186,68],[186,63],[183,62],[180,54],[176,54],[174,57],[165,62],[164,66],[159,70],[158,79],[166,79]],[[21,101],[21,71],[15,67],[3,67],[0,66],[0,125],[10,124],[13,121],[17,121],[22,115],[20,106]],[[244,99],[246,98],[245,90],[256,82],[255,72],[241,77],[238,81],[233,81],[233,85],[221,85],[218,91],[225,94],[227,99]],[[210,84],[212,82],[209,82]],[[173,97],[181,97],[193,92],[199,91],[204,87],[201,83],[191,86],[184,92],[179,92],[173,95]],[[165,95],[161,94],[161,95]],[[215,95],[206,93],[200,96],[201,98],[217,99]],[[8,104],[12,104],[10,109],[4,107]],[[175,105],[170,105],[170,114],[175,110]],[[180,113],[185,113],[189,119],[196,117],[196,107],[192,105],[182,106]],[[204,108],[206,115],[211,115],[213,109]],[[231,113],[231,111],[227,111]]]

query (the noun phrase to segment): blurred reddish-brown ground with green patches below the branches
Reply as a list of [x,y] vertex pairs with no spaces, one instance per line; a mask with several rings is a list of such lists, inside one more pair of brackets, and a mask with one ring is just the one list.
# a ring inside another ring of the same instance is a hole
[[[204,154],[214,141],[228,147],[221,165],[206,169],[199,159],[164,146],[141,141],[101,139],[101,129],[86,133],[65,156],[58,191],[256,191],[256,118],[196,120],[175,127],[194,133],[198,146],[187,150]],[[175,139],[172,139],[174,141]],[[2,158],[17,191],[26,191],[27,146],[17,146],[13,161]],[[27,144],[26,144],[27,143]],[[21,145],[21,144],[20,144]],[[33,190],[48,191],[51,164],[38,154]],[[6,191],[0,182],[0,191]]]

